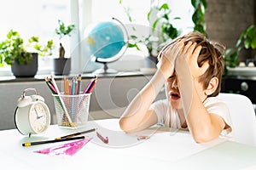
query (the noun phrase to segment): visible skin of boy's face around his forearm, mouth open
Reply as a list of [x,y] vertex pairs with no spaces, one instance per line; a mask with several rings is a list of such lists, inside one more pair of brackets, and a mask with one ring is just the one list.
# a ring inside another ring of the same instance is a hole
[[[172,108],[182,109],[183,106],[181,104],[181,94],[177,85],[177,76],[174,74],[167,80],[166,92],[168,94],[170,105],[172,105]],[[203,88],[202,83],[198,82],[198,79],[195,79],[194,86],[201,101],[204,101],[207,98],[207,95],[205,93],[205,89]]]

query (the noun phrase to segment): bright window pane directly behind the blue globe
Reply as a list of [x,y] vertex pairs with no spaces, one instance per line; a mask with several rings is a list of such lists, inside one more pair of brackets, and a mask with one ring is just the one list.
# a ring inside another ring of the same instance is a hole
[[[119,4],[119,0],[81,0],[79,2],[81,41],[86,37],[84,32],[86,32],[90,26],[94,26],[96,23],[101,21],[110,21],[113,17],[120,20],[125,25],[126,29],[128,25],[131,27],[131,22],[125,14],[124,7],[129,8],[130,10],[130,14],[133,19],[132,24],[147,27],[147,30],[144,31],[149,32],[150,29],[148,28],[149,23],[147,20],[147,14],[150,9],[150,4],[150,0],[122,0],[122,4]],[[83,57],[80,62],[83,64],[80,66],[83,71],[94,71],[96,68],[102,67],[101,64],[90,62],[90,55],[88,55],[90,52],[86,51],[83,47],[81,49]],[[145,54],[142,52],[137,51],[136,48],[128,48],[125,56],[121,57],[117,62],[109,65],[116,67],[116,70],[122,70],[124,65],[129,65],[129,63],[131,63],[130,66],[125,66],[125,68],[131,70],[138,69],[141,66],[141,63],[137,62],[137,60],[142,60],[144,55]]]

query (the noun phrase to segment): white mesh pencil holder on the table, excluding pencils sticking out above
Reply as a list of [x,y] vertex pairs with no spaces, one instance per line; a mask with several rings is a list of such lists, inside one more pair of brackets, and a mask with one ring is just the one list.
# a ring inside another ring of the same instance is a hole
[[80,127],[88,121],[90,94],[52,94],[60,127]]

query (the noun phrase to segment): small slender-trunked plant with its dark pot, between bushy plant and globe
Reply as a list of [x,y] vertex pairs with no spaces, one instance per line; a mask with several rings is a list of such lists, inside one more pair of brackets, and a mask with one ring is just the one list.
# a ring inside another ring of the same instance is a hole
[[62,46],[61,38],[71,36],[74,30],[74,25],[65,26],[65,24],[58,20],[59,26],[55,28],[55,34],[59,36],[59,57],[54,59],[54,74],[55,75],[68,75],[71,70],[71,58],[65,58],[65,48]]

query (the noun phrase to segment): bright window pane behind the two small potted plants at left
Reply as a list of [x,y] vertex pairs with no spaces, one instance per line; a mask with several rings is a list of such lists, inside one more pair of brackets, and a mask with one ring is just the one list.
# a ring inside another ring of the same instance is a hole
[[[55,57],[59,45],[55,27],[58,26],[58,20],[70,23],[70,0],[9,0],[0,6],[0,15],[0,41],[5,39],[11,29],[18,31],[25,42],[32,36],[38,36],[42,43],[54,39],[55,48],[51,57]],[[65,44],[69,47],[69,41]],[[39,74],[52,70],[51,57],[39,57]],[[9,66],[0,67],[0,72],[0,76],[11,75]]]

